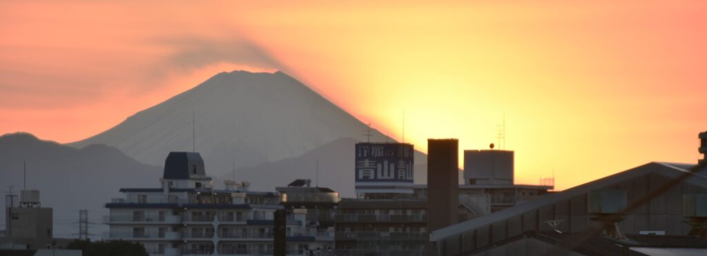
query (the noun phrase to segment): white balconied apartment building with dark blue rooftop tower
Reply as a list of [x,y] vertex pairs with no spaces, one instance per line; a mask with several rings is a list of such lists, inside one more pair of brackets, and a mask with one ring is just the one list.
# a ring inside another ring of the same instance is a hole
[[[105,239],[132,240],[150,255],[272,255],[276,192],[249,191],[247,182],[226,181],[217,190],[196,152],[170,152],[161,188],[122,188],[104,217]],[[328,255],[334,232],[294,209],[287,221],[288,255]],[[319,231],[317,231],[319,229]]]

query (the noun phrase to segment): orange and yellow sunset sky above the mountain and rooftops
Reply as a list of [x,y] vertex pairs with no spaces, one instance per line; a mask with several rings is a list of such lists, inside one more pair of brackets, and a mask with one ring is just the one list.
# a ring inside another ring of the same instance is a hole
[[0,133],[72,142],[221,71],[281,70],[426,151],[569,188],[696,163],[707,1],[1,1]]

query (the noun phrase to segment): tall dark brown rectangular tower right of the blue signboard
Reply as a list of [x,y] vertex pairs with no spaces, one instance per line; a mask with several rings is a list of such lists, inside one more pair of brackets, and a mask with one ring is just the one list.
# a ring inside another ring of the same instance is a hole
[[[459,219],[459,140],[427,140],[427,231]],[[428,246],[428,255],[436,255]]]

